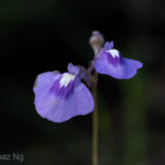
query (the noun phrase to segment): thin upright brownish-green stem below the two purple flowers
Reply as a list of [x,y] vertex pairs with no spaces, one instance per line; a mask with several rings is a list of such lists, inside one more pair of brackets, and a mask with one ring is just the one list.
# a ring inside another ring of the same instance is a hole
[[98,107],[97,107],[97,81],[98,74],[94,73],[92,96],[95,109],[92,113],[92,165],[98,165]]

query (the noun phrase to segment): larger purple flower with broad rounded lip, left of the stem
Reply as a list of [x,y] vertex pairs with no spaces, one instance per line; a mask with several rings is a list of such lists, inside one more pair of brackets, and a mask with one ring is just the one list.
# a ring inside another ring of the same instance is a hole
[[73,64],[68,64],[68,73],[47,72],[38,75],[33,88],[37,113],[54,122],[90,113],[94,99],[80,78],[79,67]]

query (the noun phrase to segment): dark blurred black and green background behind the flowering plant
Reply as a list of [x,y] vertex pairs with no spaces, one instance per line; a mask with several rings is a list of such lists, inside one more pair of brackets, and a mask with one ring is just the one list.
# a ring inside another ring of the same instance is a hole
[[163,0],[1,0],[0,164],[91,165],[91,114],[42,119],[32,88],[37,74],[66,72],[70,62],[88,67],[88,40],[99,30],[124,57],[144,64],[130,80],[99,75],[100,165],[164,165],[164,7]]

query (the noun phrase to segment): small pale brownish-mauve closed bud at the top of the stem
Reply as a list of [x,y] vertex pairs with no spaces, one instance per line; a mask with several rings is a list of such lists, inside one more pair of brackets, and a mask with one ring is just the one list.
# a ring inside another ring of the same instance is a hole
[[89,38],[89,44],[92,47],[95,54],[99,52],[103,43],[105,43],[103,35],[99,31],[94,31]]

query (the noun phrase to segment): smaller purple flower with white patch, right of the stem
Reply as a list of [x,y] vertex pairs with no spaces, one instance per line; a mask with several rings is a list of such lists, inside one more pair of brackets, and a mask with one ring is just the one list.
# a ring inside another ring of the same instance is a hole
[[113,50],[113,42],[107,42],[98,54],[95,68],[99,74],[117,79],[130,79],[142,66],[138,61],[123,58],[118,50]]

